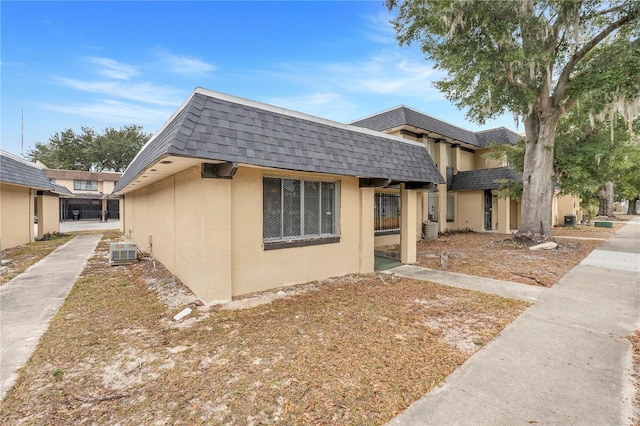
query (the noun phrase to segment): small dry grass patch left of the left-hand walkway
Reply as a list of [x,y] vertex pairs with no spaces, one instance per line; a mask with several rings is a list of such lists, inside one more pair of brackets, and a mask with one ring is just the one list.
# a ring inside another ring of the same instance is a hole
[[11,281],[16,275],[27,270],[29,266],[37,263],[74,236],[75,234],[52,234],[46,240],[2,250],[2,260],[10,262],[6,265],[7,271],[0,275],[0,285]]

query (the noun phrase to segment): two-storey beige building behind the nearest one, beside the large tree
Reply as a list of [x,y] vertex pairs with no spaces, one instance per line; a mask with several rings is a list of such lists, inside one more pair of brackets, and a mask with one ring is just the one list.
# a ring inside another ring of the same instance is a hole
[[[503,127],[472,132],[406,106],[398,106],[351,123],[423,144],[446,183],[425,193],[418,214],[423,222],[437,222],[439,232],[471,229],[509,233],[520,224],[519,200],[492,194],[502,180],[520,177],[506,160],[490,159],[492,145],[515,144],[521,136]],[[382,191],[380,191],[382,193]],[[376,228],[378,235],[385,231]],[[380,245],[393,238],[379,238]]]

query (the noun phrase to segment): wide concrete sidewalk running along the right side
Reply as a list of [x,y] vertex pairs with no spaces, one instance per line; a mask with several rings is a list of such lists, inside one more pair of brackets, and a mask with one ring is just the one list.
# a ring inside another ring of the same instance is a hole
[[624,425],[640,328],[636,218],[389,425]]

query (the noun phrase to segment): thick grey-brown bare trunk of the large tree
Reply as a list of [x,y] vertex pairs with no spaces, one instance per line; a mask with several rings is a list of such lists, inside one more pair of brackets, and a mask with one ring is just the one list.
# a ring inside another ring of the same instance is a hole
[[533,112],[523,120],[526,148],[522,174],[522,224],[518,230],[520,235],[530,235],[544,240],[553,239],[553,150],[558,120],[558,113],[544,112]]

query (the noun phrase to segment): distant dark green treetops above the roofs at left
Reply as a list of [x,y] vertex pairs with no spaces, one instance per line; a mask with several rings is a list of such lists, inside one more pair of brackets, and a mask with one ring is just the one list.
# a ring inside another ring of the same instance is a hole
[[140,126],[124,126],[120,130],[109,127],[103,134],[89,127],[81,130],[82,133],[75,133],[66,129],[56,132],[48,143],[36,142],[27,158],[52,169],[121,172],[151,136]]

